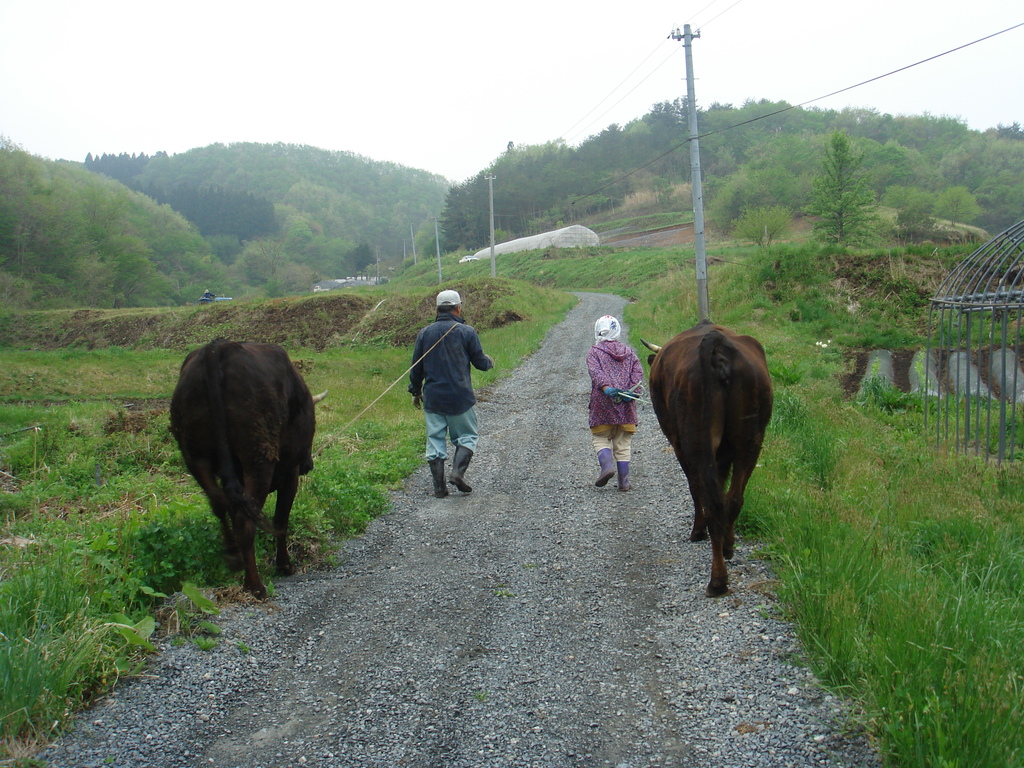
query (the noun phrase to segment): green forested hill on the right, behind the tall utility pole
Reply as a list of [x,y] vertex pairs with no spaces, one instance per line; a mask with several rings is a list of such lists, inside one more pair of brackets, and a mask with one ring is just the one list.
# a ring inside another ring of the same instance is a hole
[[[900,218],[900,231],[880,232],[883,239],[928,239],[931,219],[997,232],[1024,217],[1024,130],[1016,123],[981,132],[949,117],[752,100],[698,106],[697,128],[705,207],[718,234],[731,233],[744,210],[805,214],[835,131],[850,137],[874,203]],[[677,99],[625,126],[610,125],[579,146],[553,141],[510,147],[483,169],[498,179],[498,241],[590,223],[595,214],[636,198],[653,209],[687,210],[689,134],[686,101]],[[452,188],[441,219],[450,250],[488,242],[487,196],[482,173]]]

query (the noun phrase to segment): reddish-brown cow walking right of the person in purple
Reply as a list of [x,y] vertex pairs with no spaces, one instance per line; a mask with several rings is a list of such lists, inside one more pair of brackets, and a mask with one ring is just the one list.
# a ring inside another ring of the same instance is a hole
[[655,352],[648,357],[654,413],[693,497],[690,541],[711,534],[707,594],[724,595],[729,591],[725,561],[732,558],[743,489],[771,418],[765,351],[757,339],[709,321],[664,347],[643,344]]

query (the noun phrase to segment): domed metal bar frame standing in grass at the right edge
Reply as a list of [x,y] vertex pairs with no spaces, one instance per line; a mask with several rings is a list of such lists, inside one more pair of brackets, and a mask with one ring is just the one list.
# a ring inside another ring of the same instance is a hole
[[932,298],[918,376],[937,445],[986,461],[1024,458],[1024,221],[968,256]]

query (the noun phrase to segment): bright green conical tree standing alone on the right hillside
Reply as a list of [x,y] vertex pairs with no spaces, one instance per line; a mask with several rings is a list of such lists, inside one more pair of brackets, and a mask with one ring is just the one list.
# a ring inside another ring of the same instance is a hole
[[874,196],[860,173],[863,155],[853,151],[843,131],[828,136],[821,175],[814,179],[810,212],[820,216],[814,231],[826,243],[862,243],[869,239],[877,222]]

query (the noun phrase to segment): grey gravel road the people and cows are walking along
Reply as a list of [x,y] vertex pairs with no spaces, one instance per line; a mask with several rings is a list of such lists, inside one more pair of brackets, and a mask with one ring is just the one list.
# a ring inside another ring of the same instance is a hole
[[[795,664],[771,575],[710,544],[649,407],[634,489],[594,486],[585,355],[622,299],[581,294],[481,394],[473,493],[426,465],[329,572],[276,580],[218,618],[211,651],[167,645],[84,713],[51,766],[652,768],[878,766],[842,701]],[[467,307],[472,322],[472,307]],[[638,340],[634,340],[639,343]],[[315,471],[315,470],[314,470]]]

